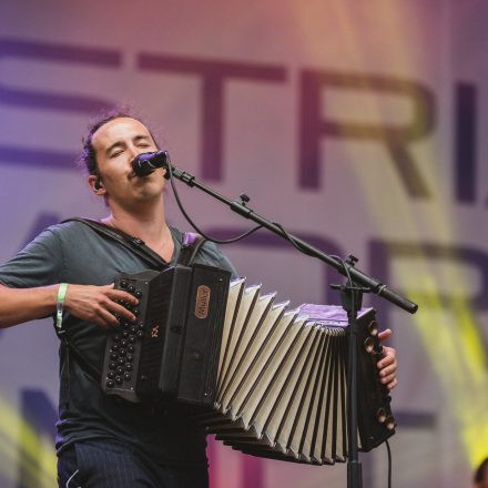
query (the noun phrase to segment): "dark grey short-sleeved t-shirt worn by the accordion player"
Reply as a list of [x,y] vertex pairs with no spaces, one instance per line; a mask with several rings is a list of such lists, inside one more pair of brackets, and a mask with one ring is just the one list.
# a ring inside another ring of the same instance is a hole
[[[177,260],[183,234],[171,228]],[[195,262],[228,270],[230,261],[206,242]],[[149,265],[129,248],[80,222],[53,225],[12,260],[0,266],[0,283],[16,288],[57,283],[106,285],[121,273],[139,273]],[[64,314],[63,328],[84,358],[101,369],[106,332]],[[57,448],[75,440],[112,438],[130,443],[163,465],[206,465],[205,434],[177,408],[153,414],[140,404],[118,403],[102,393],[99,383],[60,349],[60,404]]]

